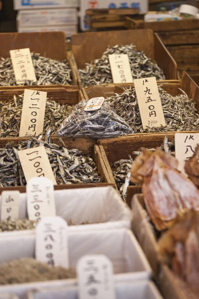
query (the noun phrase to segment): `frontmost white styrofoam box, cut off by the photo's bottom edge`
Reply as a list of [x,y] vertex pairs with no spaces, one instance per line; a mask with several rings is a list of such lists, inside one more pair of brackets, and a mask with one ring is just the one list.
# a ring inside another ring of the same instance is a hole
[[[115,284],[116,299],[163,299],[151,281],[123,282]],[[30,291],[27,299],[77,299],[78,288],[43,289]]]

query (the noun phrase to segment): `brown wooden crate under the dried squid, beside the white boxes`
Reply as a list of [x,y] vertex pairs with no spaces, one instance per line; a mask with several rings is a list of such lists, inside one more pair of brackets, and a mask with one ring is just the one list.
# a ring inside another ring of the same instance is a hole
[[144,251],[155,274],[164,299],[197,299],[186,283],[158,261],[158,243],[154,226],[149,222],[149,215],[144,204],[143,194],[135,194],[132,204],[132,230]]

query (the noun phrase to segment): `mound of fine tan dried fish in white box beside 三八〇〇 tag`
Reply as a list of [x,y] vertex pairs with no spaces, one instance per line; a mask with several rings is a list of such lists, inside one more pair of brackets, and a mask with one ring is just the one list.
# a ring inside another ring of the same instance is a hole
[[0,266],[0,285],[71,278],[76,278],[73,268],[50,267],[30,258],[13,260]]

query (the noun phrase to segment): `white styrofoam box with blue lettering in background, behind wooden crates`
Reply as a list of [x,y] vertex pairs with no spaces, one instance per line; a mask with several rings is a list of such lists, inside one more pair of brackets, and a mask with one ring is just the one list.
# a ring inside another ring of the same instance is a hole
[[93,8],[138,8],[140,12],[146,13],[149,5],[148,0],[80,0],[81,29],[88,27],[84,23],[87,9]]

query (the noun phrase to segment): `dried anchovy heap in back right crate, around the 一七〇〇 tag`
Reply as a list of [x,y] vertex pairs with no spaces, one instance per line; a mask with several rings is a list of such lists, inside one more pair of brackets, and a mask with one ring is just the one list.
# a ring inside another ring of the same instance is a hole
[[133,44],[108,47],[100,59],[86,63],[84,70],[79,69],[83,86],[92,86],[104,83],[113,83],[108,55],[127,54],[133,79],[156,77],[157,80],[165,80],[163,70],[146,57],[143,51],[135,49]]

